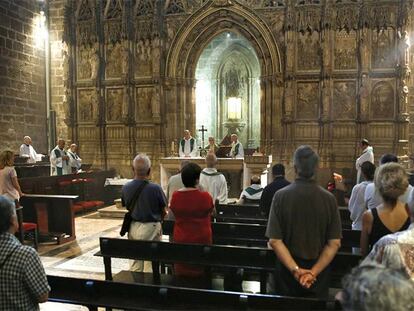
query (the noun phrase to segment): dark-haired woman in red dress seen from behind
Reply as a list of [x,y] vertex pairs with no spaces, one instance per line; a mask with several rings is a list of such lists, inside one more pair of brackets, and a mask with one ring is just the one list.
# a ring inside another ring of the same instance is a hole
[[[170,209],[175,216],[174,242],[211,244],[211,213],[214,205],[208,192],[197,188],[201,168],[195,163],[188,163],[181,170],[184,188],[173,193]],[[203,270],[197,267],[175,264],[174,273],[197,277]]]

